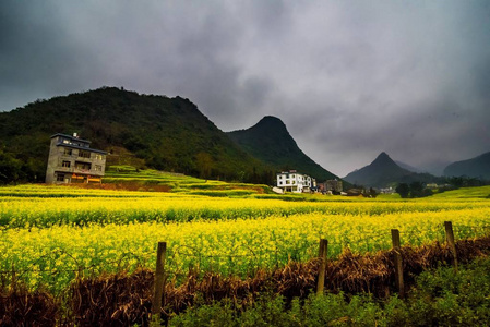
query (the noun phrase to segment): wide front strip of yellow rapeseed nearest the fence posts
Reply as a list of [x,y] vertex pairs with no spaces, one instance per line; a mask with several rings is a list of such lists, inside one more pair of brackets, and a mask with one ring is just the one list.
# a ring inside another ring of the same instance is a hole
[[29,287],[47,284],[63,290],[76,274],[132,271],[154,267],[158,241],[168,243],[167,268],[177,277],[190,267],[246,276],[260,268],[307,261],[318,252],[319,239],[328,240],[328,256],[345,247],[354,252],[391,247],[390,230],[401,231],[402,243],[420,245],[444,241],[443,221],[452,220],[456,239],[488,233],[490,208],[409,211],[382,215],[296,214],[264,219],[89,223],[85,227],[4,229],[0,240],[0,271],[8,280],[12,268]]

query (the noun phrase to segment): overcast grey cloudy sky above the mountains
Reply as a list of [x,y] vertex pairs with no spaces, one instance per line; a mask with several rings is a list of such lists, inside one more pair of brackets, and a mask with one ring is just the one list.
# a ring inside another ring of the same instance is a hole
[[283,120],[344,177],[490,150],[490,1],[0,1],[0,111],[117,86]]

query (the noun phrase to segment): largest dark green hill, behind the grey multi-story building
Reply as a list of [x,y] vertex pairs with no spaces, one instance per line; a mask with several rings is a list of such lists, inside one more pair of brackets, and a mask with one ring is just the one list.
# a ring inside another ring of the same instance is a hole
[[115,87],[0,112],[0,168],[8,167],[13,181],[43,182],[50,136],[73,132],[93,148],[132,156],[146,167],[224,180],[274,179],[271,167],[242,150],[190,100]]

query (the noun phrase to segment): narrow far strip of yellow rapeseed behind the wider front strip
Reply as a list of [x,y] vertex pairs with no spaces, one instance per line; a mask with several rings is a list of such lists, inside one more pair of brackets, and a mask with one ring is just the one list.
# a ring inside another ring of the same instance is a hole
[[0,227],[260,219],[297,214],[379,216],[488,208],[488,202],[284,202],[256,198],[9,198],[0,201]]

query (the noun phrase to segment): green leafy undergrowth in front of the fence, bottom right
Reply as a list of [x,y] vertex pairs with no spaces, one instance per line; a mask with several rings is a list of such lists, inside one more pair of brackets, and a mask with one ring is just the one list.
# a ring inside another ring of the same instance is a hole
[[405,301],[340,292],[291,302],[264,294],[252,305],[201,302],[171,316],[168,326],[488,326],[489,270],[490,259],[480,258],[457,274],[449,267],[425,271]]

